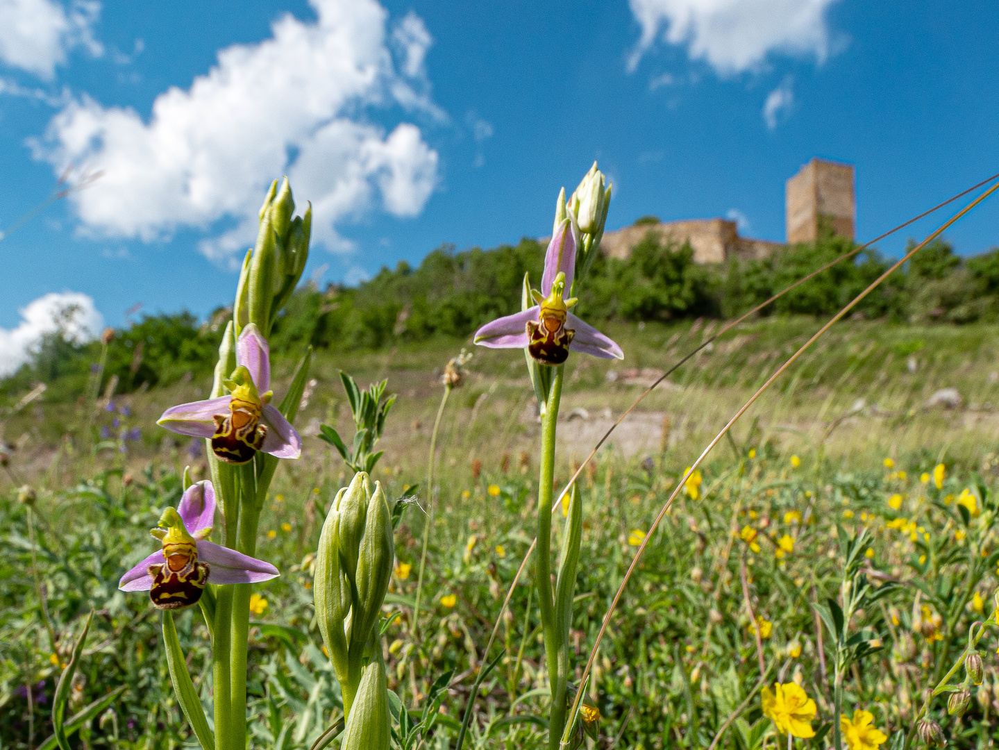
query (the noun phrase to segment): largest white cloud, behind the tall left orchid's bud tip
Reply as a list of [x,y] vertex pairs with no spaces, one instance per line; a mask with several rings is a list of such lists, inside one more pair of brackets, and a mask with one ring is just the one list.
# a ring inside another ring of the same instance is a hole
[[378,208],[422,211],[438,153],[416,125],[383,128],[368,115],[395,105],[444,118],[425,75],[430,34],[412,13],[392,24],[376,0],[312,5],[315,22],[286,14],[271,38],[221,50],[189,88],[160,94],[148,120],[88,96],[57,114],[36,158],[57,173],[103,170],[71,199],[81,230],[147,242],[179,227],[214,231],[202,252],[231,263],[253,243],[264,192],[282,174],[300,204],[313,202],[314,237],[332,250],[350,247],[338,223]]

